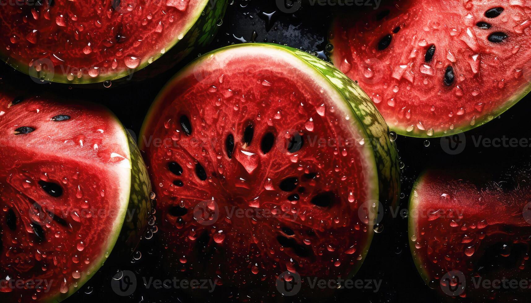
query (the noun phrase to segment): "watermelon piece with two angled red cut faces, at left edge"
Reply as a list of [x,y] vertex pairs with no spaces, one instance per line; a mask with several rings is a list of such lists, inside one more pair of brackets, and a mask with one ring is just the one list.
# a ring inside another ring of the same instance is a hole
[[1,93],[0,122],[2,300],[64,300],[116,243],[123,255],[138,244],[151,212],[147,170],[96,105]]

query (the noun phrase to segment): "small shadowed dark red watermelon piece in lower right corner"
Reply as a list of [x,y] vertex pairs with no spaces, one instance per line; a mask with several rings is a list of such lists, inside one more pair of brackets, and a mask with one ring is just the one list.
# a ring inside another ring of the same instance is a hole
[[410,196],[409,238],[426,284],[478,302],[529,297],[528,288],[481,286],[482,280],[529,279],[529,177],[529,171],[517,172],[485,184],[475,180],[477,175],[434,170],[417,179]]

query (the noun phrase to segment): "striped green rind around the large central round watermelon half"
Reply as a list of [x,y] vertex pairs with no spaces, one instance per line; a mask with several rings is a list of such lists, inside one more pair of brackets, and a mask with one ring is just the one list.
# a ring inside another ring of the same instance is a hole
[[[216,53],[220,53],[221,51],[227,51],[239,47],[246,47],[249,49],[255,47],[284,50],[286,55],[290,56],[290,59],[297,59],[301,64],[301,68],[305,68],[309,73],[314,74],[316,79],[321,78],[323,85],[329,85],[332,90],[336,91],[338,95],[342,97],[342,104],[350,109],[353,114],[352,116],[355,117],[355,119],[350,120],[353,127],[358,131],[363,132],[365,140],[370,143],[377,143],[367,145],[366,148],[364,148],[367,161],[372,162],[376,170],[376,176],[374,176],[375,178],[372,182],[372,196],[382,203],[396,203],[400,186],[398,153],[395,144],[389,140],[387,124],[385,124],[378,110],[376,110],[369,97],[359,88],[359,86],[347,76],[339,72],[335,66],[305,53],[304,51],[288,46],[269,43],[236,44],[213,50],[210,53],[199,57],[194,62],[184,67],[183,70],[179,71],[159,92],[159,95],[151,105],[144,120],[140,132],[141,137],[147,135],[145,134],[145,131],[149,128],[151,120],[157,117],[156,112],[158,112],[158,109],[161,106],[161,100],[164,99],[166,92],[173,87],[174,83],[177,83],[187,75],[192,74],[194,66],[199,64],[202,60],[205,60]],[[337,102],[339,102],[339,100]],[[140,140],[139,146],[141,149],[145,147],[142,144],[142,140]],[[361,252],[362,261],[356,264],[356,267],[350,273],[350,276],[354,276],[359,270],[369,251],[374,231],[370,228],[367,230],[367,233],[369,233],[369,238],[367,241],[367,247]]]

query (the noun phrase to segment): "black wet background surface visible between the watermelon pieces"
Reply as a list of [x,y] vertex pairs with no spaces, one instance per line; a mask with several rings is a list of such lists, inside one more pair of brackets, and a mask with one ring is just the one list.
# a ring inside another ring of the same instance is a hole
[[[153,79],[132,85],[112,85],[86,89],[65,84],[37,84],[29,76],[22,75],[2,64],[2,77],[6,82],[14,82],[15,86],[28,93],[42,91],[52,92],[67,99],[85,99],[102,103],[112,109],[126,128],[139,133],[145,113],[157,96],[162,86],[186,63],[199,53],[241,42],[273,42],[286,44],[306,51],[314,51],[326,59],[324,48],[327,45],[329,25],[334,8],[329,6],[310,6],[304,4],[296,13],[285,14],[278,10],[275,0],[228,0],[227,13],[215,41],[208,49],[198,50],[184,59],[170,71]],[[357,10],[366,8],[356,8]],[[369,8],[371,9],[371,8]],[[275,13],[273,13],[275,12]],[[273,13],[268,18],[264,13]],[[355,18],[355,17],[353,17]],[[134,77],[134,76],[133,76]],[[474,138],[482,135],[488,138],[530,138],[529,133],[529,96],[521,100],[515,107],[492,122],[473,129],[465,134],[466,145],[463,152],[450,155],[441,148],[440,138],[426,139],[398,136],[398,146],[402,169],[402,198],[400,206],[407,208],[411,186],[418,174],[427,168],[463,169],[472,171],[478,176],[499,174],[511,165],[528,162],[529,148],[519,147],[486,147],[475,146]],[[463,143],[461,143],[463,144]],[[490,177],[485,177],[490,178]],[[157,235],[144,240],[140,252],[142,257],[135,263],[106,264],[87,285],[67,302],[76,301],[109,301],[125,300],[130,302],[187,302],[194,301],[177,292],[146,290],[143,288],[141,276],[158,278],[157,268],[162,266],[155,249]],[[107,262],[110,263],[110,262]],[[118,297],[110,289],[111,277],[120,270],[132,270],[139,277],[139,287],[130,297]],[[369,255],[356,279],[382,279],[383,285],[379,292],[372,290],[346,290],[339,292],[333,301],[356,302],[399,302],[399,301],[434,301],[443,302],[444,298],[435,290],[430,289],[422,281],[409,252],[407,239],[407,219],[398,217],[393,222],[385,222],[383,231],[375,235]],[[220,298],[221,299],[221,298]]]

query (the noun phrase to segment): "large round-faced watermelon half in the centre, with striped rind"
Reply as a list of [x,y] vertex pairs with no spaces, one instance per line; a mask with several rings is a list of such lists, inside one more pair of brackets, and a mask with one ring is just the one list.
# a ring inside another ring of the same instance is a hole
[[216,281],[217,298],[281,297],[293,275],[308,297],[324,290],[307,277],[353,275],[371,207],[397,197],[395,146],[366,94],[289,47],[203,55],[159,94],[140,146],[169,267]]

